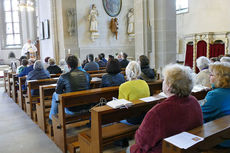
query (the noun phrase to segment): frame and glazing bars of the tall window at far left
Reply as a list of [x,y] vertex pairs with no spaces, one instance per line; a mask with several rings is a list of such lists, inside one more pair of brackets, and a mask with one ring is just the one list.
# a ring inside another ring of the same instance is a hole
[[[2,25],[2,30],[1,30],[1,49],[3,50],[12,50],[12,49],[21,49],[22,48],[22,24],[21,24],[21,12],[20,10],[18,9],[18,19],[19,19],[19,22],[14,22],[14,18],[13,18],[13,12],[15,12],[15,10],[13,10],[13,6],[12,6],[12,0],[8,0],[11,2],[11,9],[10,11],[5,11],[5,7],[4,7],[4,2],[5,0],[2,0],[0,3],[0,18],[1,18],[1,21],[0,21],[0,24]],[[6,22],[6,17],[5,17],[5,14],[6,12],[10,12],[11,13],[11,18],[12,18],[12,21],[11,22]],[[11,23],[12,24],[12,33],[11,34],[7,34],[7,30],[6,30],[6,25],[7,23]],[[14,24],[15,23],[19,23],[19,33],[15,33],[14,30]],[[16,35],[16,34],[19,34],[20,35],[20,44],[12,44],[12,45],[7,45],[7,35]]]

